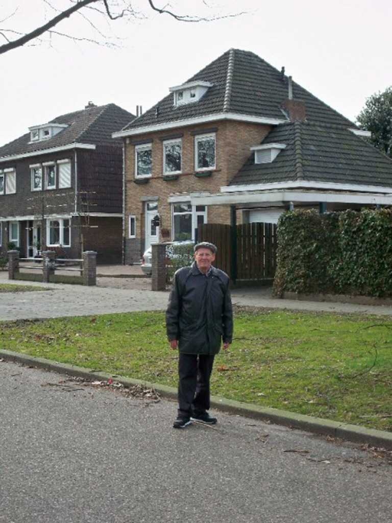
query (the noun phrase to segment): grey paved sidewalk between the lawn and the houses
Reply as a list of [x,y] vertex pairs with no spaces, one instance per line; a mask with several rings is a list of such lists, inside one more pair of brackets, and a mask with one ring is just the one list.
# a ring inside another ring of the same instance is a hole
[[[85,287],[64,283],[10,281],[8,273],[0,271],[0,282],[17,285],[28,283],[49,289],[45,292],[3,293],[0,320],[166,309],[168,291],[152,291],[151,278],[144,277],[139,265],[98,266],[97,275],[97,286]],[[392,316],[392,306],[283,300],[274,298],[268,287],[234,289],[232,298],[234,304],[270,309]]]

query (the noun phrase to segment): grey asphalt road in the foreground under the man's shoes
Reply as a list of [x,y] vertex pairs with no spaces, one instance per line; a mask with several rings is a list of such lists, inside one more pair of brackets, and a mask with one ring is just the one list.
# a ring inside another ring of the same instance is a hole
[[2,523],[390,523],[392,467],[352,444],[0,362]]

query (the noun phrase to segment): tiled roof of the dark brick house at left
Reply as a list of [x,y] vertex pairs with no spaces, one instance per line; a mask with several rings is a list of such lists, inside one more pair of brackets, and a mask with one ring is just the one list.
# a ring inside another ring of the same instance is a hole
[[121,140],[113,140],[114,131],[118,131],[135,117],[130,112],[114,104],[91,106],[81,111],[58,116],[48,123],[67,124],[63,131],[48,140],[30,142],[30,132],[0,147],[0,158],[18,154],[62,147],[72,143],[122,146]]

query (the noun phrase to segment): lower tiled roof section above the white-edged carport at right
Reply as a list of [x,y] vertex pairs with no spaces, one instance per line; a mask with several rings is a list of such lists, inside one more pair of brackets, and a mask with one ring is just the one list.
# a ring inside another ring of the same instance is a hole
[[287,144],[272,163],[254,155],[229,185],[316,181],[392,187],[392,160],[352,131],[310,122],[276,126],[262,142]]

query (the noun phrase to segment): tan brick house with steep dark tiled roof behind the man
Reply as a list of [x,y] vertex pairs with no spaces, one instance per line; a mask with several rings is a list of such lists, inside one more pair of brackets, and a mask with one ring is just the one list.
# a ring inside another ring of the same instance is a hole
[[390,158],[256,54],[230,49],[169,91],[113,133],[124,140],[125,263],[207,221],[392,203]]

